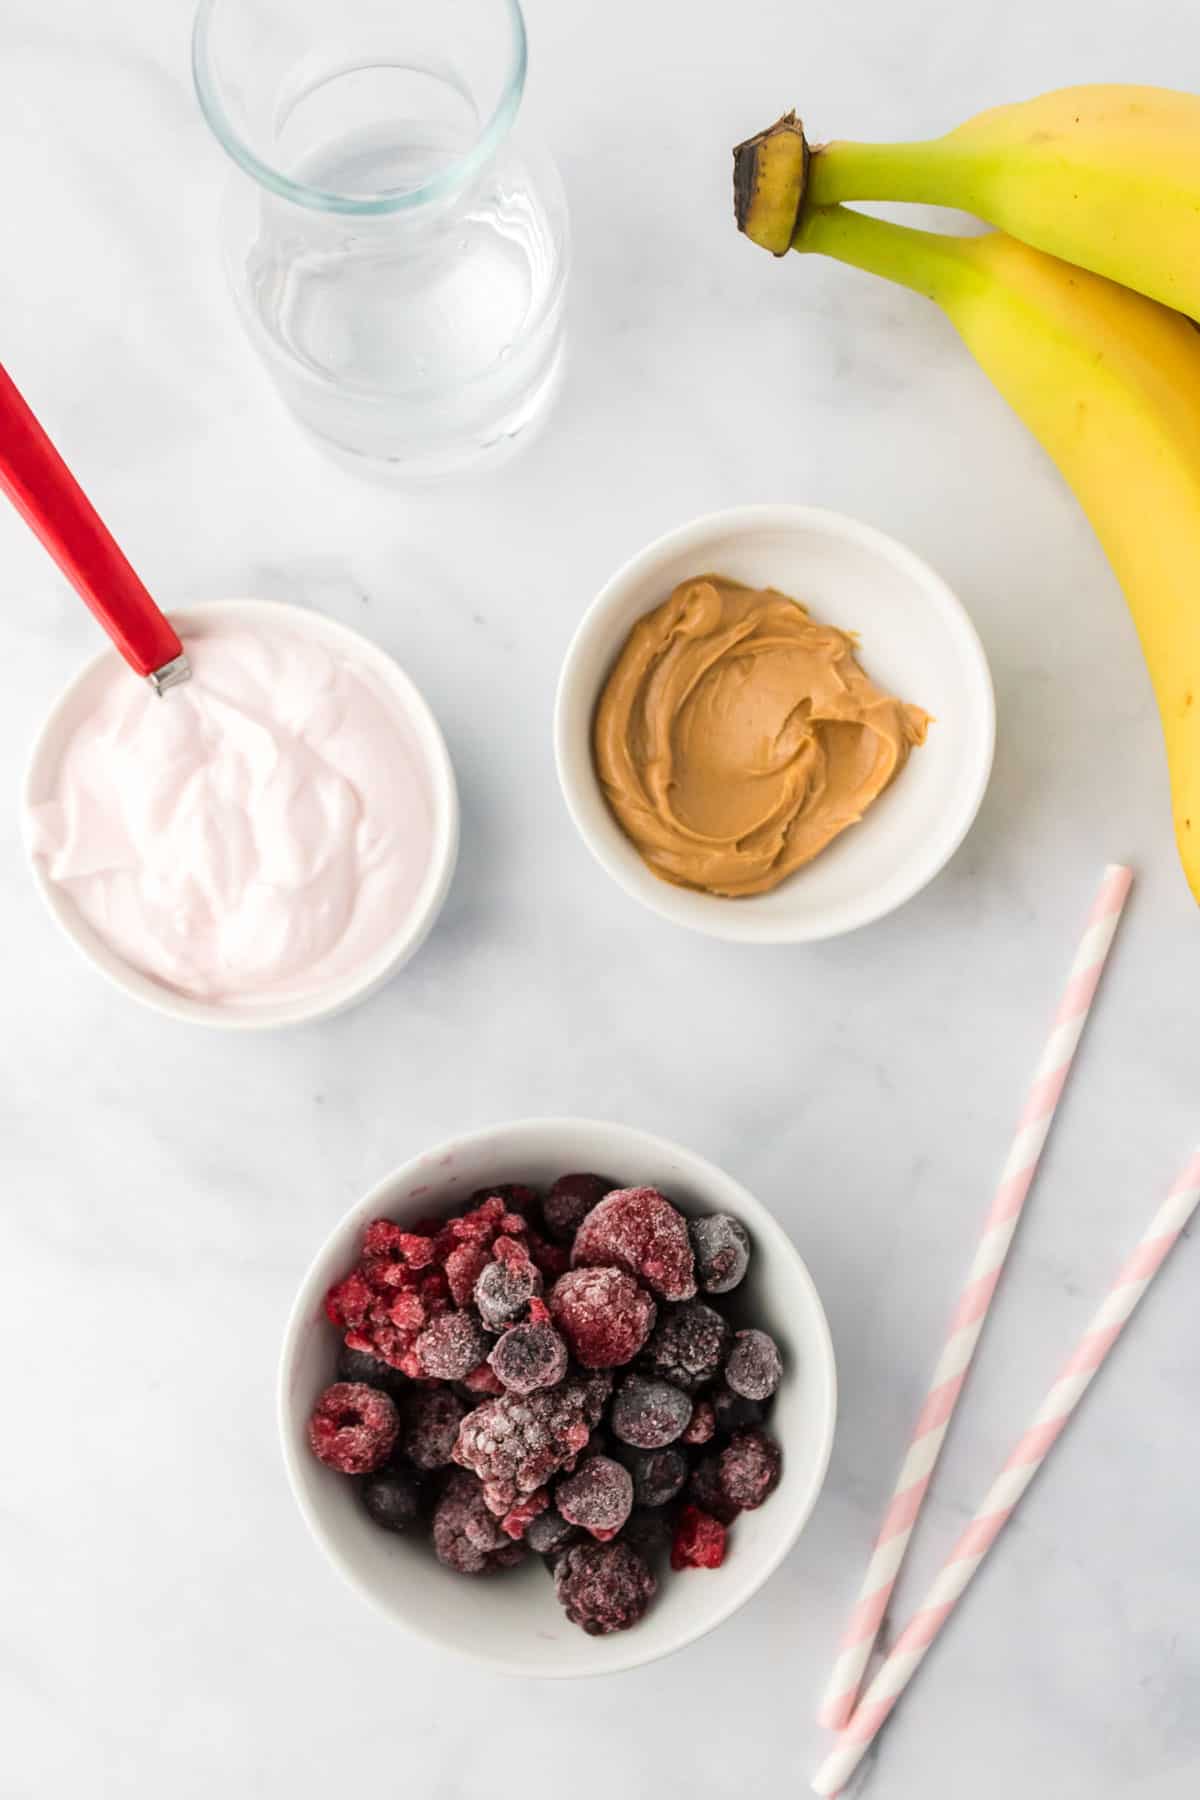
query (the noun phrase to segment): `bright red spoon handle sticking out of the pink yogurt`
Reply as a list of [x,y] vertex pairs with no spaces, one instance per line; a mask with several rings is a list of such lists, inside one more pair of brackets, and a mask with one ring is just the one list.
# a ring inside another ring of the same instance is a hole
[[139,675],[184,646],[0,365],[0,488]]

